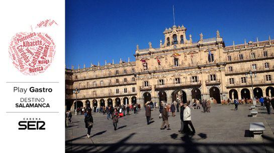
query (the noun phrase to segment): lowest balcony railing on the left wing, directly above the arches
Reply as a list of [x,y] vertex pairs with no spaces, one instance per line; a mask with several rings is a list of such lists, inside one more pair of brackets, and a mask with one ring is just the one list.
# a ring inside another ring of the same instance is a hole
[[[84,95],[77,95],[77,99],[116,97],[116,96],[135,95],[135,94],[137,94],[137,92],[84,94]],[[76,98],[75,94],[73,94],[72,98],[73,99]]]

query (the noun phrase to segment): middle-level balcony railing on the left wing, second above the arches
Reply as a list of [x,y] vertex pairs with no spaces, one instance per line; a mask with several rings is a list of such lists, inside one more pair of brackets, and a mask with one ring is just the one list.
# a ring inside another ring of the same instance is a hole
[[122,82],[119,82],[119,83],[103,83],[103,84],[88,84],[88,85],[84,85],[84,84],[81,84],[80,86],[79,85],[75,85],[75,87],[79,88],[79,89],[83,89],[83,88],[99,88],[99,87],[108,87],[108,86],[116,86],[116,85],[129,85],[129,84],[136,84],[136,81],[122,81]]

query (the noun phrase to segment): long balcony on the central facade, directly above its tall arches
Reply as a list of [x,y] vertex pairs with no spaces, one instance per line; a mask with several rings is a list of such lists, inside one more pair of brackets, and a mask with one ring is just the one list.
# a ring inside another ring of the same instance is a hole
[[200,86],[201,84],[202,84],[201,80],[198,80],[197,82],[187,81],[187,82],[180,82],[180,83],[166,83],[163,85],[161,84],[155,85],[155,89]]

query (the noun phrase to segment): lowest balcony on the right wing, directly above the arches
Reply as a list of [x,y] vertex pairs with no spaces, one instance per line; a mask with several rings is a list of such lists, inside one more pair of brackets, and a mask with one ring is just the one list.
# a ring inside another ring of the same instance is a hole
[[[253,80],[253,86],[260,86],[260,85],[274,85],[273,80]],[[251,86],[251,80],[246,81],[245,83],[242,83],[241,81],[235,81],[234,83],[226,83],[227,88],[233,88],[233,87],[250,87]]]

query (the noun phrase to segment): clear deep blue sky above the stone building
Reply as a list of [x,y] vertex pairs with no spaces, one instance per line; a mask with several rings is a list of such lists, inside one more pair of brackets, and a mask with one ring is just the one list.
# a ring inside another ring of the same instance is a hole
[[[183,24],[198,41],[216,36],[226,45],[274,39],[273,0],[66,0],[66,65],[135,60],[136,44],[159,47],[165,27]],[[189,39],[189,38],[188,38]]]

